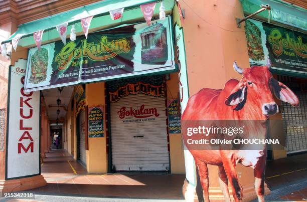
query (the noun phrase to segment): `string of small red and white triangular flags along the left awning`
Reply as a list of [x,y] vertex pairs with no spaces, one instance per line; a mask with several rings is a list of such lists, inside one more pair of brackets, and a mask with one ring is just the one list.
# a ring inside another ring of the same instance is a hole
[[[179,5],[179,0],[176,0],[176,2],[177,2],[177,5],[178,5],[179,15],[182,19],[182,12],[181,12],[181,8],[180,8],[180,5]],[[155,13],[156,4],[157,4],[157,2],[152,2],[152,3],[140,5],[140,9],[143,13],[144,19],[145,19],[148,26],[150,26],[151,18]],[[160,11],[160,20],[165,20],[166,13],[165,13],[165,7],[163,5],[163,1],[161,1],[159,11]],[[112,20],[121,19],[122,16],[123,16],[123,12],[124,12],[124,8],[109,11],[110,17],[111,17]],[[84,33],[86,38],[87,38],[88,30],[90,28],[90,24],[91,24],[93,17],[94,16],[90,16],[90,17],[86,17],[86,18],[83,18],[83,19],[80,20],[82,30],[83,30],[83,33]],[[68,22],[56,26],[56,29],[57,29],[57,31],[60,35],[60,38],[61,38],[61,40],[64,44],[66,44],[67,27],[68,27]],[[43,33],[44,33],[44,30],[40,30],[38,32],[33,33],[35,44],[36,44],[38,50],[40,50],[40,48],[41,48]],[[13,46],[15,51],[17,49],[18,42],[21,39],[21,37],[22,36],[16,36],[14,39],[12,39],[12,46]],[[70,40],[71,41],[76,40],[76,29],[75,29],[74,24],[72,25],[72,28],[70,30]],[[4,46],[2,48],[2,52],[4,52],[5,47],[6,47],[6,44],[4,44]],[[0,46],[0,51],[1,51],[1,46]]]

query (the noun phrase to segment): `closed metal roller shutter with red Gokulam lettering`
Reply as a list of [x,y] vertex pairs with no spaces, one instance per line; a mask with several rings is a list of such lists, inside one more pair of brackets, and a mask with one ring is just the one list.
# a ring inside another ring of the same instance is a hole
[[[121,110],[123,107],[126,107],[128,112],[123,114]],[[143,108],[142,112],[152,113],[139,115],[148,116],[145,118],[135,117],[131,114],[131,108],[136,110]],[[159,115],[154,113],[154,109],[157,109]],[[165,171],[169,169],[164,97],[129,95],[116,103],[111,103],[110,115],[112,165],[116,170]]]

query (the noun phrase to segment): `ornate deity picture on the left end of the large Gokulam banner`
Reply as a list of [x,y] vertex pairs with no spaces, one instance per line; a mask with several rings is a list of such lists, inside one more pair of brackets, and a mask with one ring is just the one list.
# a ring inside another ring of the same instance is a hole
[[41,48],[31,56],[31,76],[29,83],[38,84],[46,81],[48,66],[48,50]]

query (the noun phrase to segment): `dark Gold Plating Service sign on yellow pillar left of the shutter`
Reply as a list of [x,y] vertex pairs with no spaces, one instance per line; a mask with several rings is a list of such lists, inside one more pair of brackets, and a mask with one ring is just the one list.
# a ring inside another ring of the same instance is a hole
[[88,108],[88,137],[104,137],[102,106]]

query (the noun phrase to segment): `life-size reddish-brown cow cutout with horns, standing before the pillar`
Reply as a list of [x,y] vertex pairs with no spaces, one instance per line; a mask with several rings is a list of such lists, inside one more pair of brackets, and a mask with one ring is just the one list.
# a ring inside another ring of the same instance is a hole
[[[243,75],[238,81],[231,79],[224,89],[204,88],[190,97],[182,115],[185,120],[267,120],[268,116],[278,112],[275,96],[284,102],[297,107],[296,95],[283,83],[275,80],[269,71],[271,62],[265,66],[252,66],[241,69],[234,62],[234,70]],[[262,137],[266,135],[263,126]],[[188,136],[183,134],[184,142]],[[231,184],[235,201],[242,200],[243,189],[238,182],[235,166],[241,163],[254,168],[255,189],[259,201],[264,201],[264,169],[266,148],[263,150],[198,150],[186,144],[198,167],[200,182],[205,200],[209,201],[209,179],[207,164],[219,167],[219,182],[226,201],[230,201],[228,181]],[[248,153],[247,153],[248,152]],[[257,153],[255,153],[257,152]],[[252,154],[252,155],[250,155]]]

